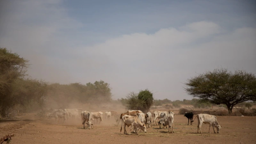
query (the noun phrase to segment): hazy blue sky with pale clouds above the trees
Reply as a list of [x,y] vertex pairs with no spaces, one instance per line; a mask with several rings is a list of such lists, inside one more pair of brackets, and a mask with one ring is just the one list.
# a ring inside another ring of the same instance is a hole
[[0,47],[49,83],[192,99],[184,83],[200,73],[256,73],[256,0],[2,0]]

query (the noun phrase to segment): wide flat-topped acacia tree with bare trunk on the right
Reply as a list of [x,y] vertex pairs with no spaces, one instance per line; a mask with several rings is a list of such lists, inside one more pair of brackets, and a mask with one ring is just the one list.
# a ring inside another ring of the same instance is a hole
[[189,95],[201,102],[225,104],[229,114],[236,104],[256,100],[256,76],[244,70],[214,69],[188,79],[185,85]]

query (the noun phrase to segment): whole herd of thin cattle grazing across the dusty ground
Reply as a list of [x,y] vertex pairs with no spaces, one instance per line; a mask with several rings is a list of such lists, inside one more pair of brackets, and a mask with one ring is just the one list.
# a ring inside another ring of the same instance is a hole
[[[56,123],[58,123],[58,118],[59,121],[61,118],[64,119],[63,123],[65,122],[65,120],[69,120],[72,118],[79,118],[79,114],[81,114],[81,119],[82,119],[82,124],[85,128],[85,124],[86,124],[86,129],[93,129],[93,124],[92,121],[94,122],[95,120],[97,121],[98,124],[100,124],[100,122],[102,123],[103,121],[103,113],[102,112],[89,112],[89,111],[82,111],[81,109],[54,109],[52,111],[52,113],[48,113],[47,117],[48,119],[53,117],[56,119]],[[117,117],[118,114],[115,111],[106,111],[105,112],[105,119],[110,119],[111,116],[115,116]],[[173,111],[155,111],[154,112],[154,120],[153,123],[155,125],[156,123],[156,119],[158,118],[158,125],[161,129],[161,125],[163,125],[163,127],[167,128],[167,125],[169,127],[168,132],[169,133],[173,133],[173,124],[174,124],[174,116],[175,114],[173,113]],[[209,133],[210,133],[210,128],[212,126],[214,133],[214,127],[217,129],[217,133],[220,132],[220,128],[221,126],[219,125],[219,123],[217,122],[217,118],[216,116],[213,115],[208,115],[208,114],[198,114],[196,115],[195,119],[193,120],[194,114],[192,112],[189,113],[185,113],[184,116],[186,116],[188,118],[188,124],[189,124],[189,120],[190,120],[190,125],[193,125],[192,123],[194,122],[194,120],[197,118],[198,120],[198,125],[197,125],[197,133],[199,133],[199,129],[200,129],[200,133],[202,133],[201,131],[201,126],[202,124],[210,124],[209,125]],[[147,132],[147,128],[149,128],[150,126],[152,127],[152,115],[150,112],[144,114],[142,111],[140,110],[128,110],[126,113],[122,113],[120,115],[120,120],[122,120],[122,125],[121,125],[121,130],[122,131],[122,126],[124,124],[124,134],[130,134],[127,133],[126,131],[126,125],[127,127],[131,126],[130,128],[130,132],[133,128],[133,133],[138,135],[138,131],[140,129],[140,132]],[[156,123],[157,125],[157,123]]]

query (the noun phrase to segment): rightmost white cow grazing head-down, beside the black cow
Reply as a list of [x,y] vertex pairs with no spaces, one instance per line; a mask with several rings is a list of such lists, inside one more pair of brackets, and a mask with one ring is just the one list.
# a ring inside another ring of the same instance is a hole
[[[220,133],[221,126],[217,122],[216,116],[208,115],[208,114],[198,114],[198,115],[196,115],[196,117],[197,117],[197,120],[198,120],[197,133],[199,133],[198,129],[200,129],[200,133],[202,134],[201,126],[202,126],[203,123],[204,124],[210,124],[209,125],[209,133],[210,133],[211,126],[213,128],[214,133],[216,133],[215,130],[214,130],[214,127],[216,127],[216,129],[217,129],[217,133]],[[195,119],[196,119],[196,117],[195,117]],[[194,120],[192,122],[194,122]]]

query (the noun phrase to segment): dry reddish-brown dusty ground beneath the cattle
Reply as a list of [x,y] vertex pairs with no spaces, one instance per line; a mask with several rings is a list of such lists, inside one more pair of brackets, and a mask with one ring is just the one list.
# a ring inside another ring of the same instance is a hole
[[[105,113],[105,111],[102,111]],[[220,133],[208,132],[209,124],[202,125],[203,134],[197,133],[197,119],[193,125],[187,125],[188,119],[174,111],[174,132],[167,133],[168,129],[159,129],[153,125],[147,133],[139,135],[124,135],[120,133],[121,123],[115,126],[114,117],[111,120],[103,119],[103,124],[95,124],[93,129],[83,129],[80,119],[56,124],[54,119],[36,119],[35,114],[20,116],[21,120],[0,120],[0,136],[14,133],[11,144],[23,143],[256,143],[256,117],[247,116],[217,116],[222,126]],[[22,119],[23,118],[23,119]],[[130,128],[127,129],[129,132]],[[216,129],[215,129],[216,130]],[[4,142],[5,143],[5,142]]]

